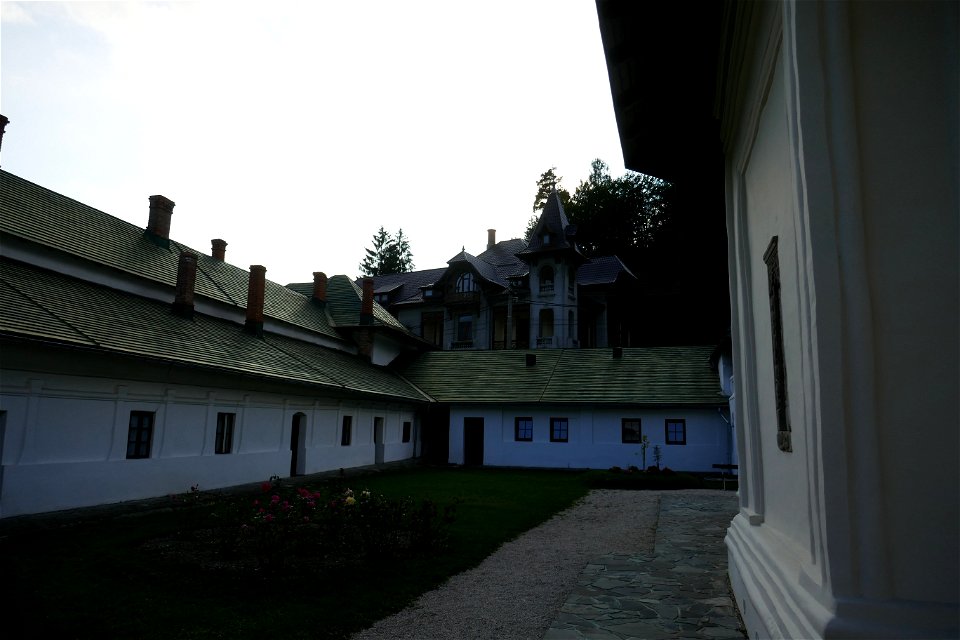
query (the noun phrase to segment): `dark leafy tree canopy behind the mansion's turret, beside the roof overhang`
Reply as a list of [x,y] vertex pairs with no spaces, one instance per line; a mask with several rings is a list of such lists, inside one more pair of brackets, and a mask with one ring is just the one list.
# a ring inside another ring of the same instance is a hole
[[[658,178],[632,171],[614,178],[607,164],[596,159],[572,196],[560,180],[555,167],[541,174],[534,211],[543,209],[556,189],[567,218],[577,225],[577,244],[587,256],[618,255],[629,260],[649,247],[669,220],[672,187]],[[528,239],[536,221],[535,216],[528,224]]]

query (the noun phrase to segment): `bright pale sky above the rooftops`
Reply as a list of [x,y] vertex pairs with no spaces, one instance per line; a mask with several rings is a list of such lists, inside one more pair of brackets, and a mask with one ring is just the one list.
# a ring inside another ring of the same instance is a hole
[[521,237],[623,159],[594,0],[0,3],[3,169],[281,284]]

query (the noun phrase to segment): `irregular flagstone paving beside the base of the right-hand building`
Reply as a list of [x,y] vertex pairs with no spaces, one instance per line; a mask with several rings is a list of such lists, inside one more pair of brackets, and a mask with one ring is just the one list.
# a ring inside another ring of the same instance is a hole
[[586,566],[543,640],[745,638],[723,537],[736,494],[662,494],[652,554]]

